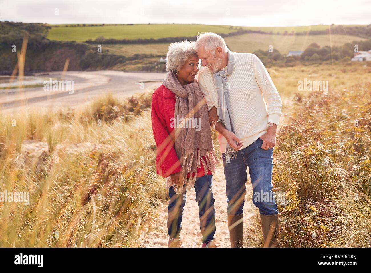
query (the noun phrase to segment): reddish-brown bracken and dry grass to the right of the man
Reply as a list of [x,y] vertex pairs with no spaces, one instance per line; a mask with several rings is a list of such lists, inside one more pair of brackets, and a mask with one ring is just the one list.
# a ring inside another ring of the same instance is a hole
[[296,94],[274,150],[285,247],[370,247],[371,82]]

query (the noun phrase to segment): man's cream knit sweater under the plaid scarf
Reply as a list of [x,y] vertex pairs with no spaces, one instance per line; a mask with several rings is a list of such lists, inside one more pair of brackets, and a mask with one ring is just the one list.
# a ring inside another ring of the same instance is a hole
[[[282,101],[267,69],[255,54],[233,53],[233,73],[227,77],[229,100],[234,130],[243,141],[241,149],[244,149],[266,133],[269,122],[278,125]],[[227,66],[223,68],[226,69]],[[197,79],[210,110],[218,105],[214,74],[204,66],[198,72]],[[225,153],[227,140],[219,133],[218,141],[221,152]]]

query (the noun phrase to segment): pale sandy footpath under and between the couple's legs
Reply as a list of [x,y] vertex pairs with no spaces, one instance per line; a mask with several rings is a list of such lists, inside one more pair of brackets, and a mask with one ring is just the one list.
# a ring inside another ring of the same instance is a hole
[[[247,169],[247,172],[249,170]],[[250,178],[246,183],[247,194],[244,204],[244,247],[256,246],[259,244],[259,227],[256,226],[254,217],[259,217],[259,209],[252,203],[252,185]],[[223,172],[223,163],[220,163],[213,175],[214,207],[216,217],[216,244],[218,247],[230,247],[229,232],[227,224],[227,202],[226,202],[226,181]],[[158,208],[158,222],[150,232],[141,239],[144,247],[168,247],[167,235],[167,205]],[[187,192],[187,199],[184,206],[182,231],[180,233],[183,241],[182,247],[201,247],[200,218],[194,189]]]

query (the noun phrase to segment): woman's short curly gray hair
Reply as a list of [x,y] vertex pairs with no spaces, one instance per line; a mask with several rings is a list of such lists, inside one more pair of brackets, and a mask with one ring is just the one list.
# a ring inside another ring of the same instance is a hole
[[176,73],[188,58],[197,56],[194,50],[195,43],[190,41],[171,43],[166,53],[166,71]]

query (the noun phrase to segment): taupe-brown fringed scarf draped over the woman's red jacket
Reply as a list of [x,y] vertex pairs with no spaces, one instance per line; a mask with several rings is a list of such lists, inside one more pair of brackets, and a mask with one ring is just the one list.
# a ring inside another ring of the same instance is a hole
[[[200,160],[205,174],[209,170],[214,173],[215,165],[219,163],[211,139],[209,111],[196,82],[181,85],[175,74],[168,72],[162,84],[175,94],[175,118],[171,123],[175,127],[174,148],[180,161],[184,185],[189,190],[194,187],[197,173],[194,176],[190,175],[189,178],[187,175],[201,168]],[[183,123],[178,124],[177,121],[182,120]],[[206,156],[206,160],[202,156]],[[174,184],[170,176],[166,178],[167,188],[173,186],[176,194],[183,192],[184,185]]]

